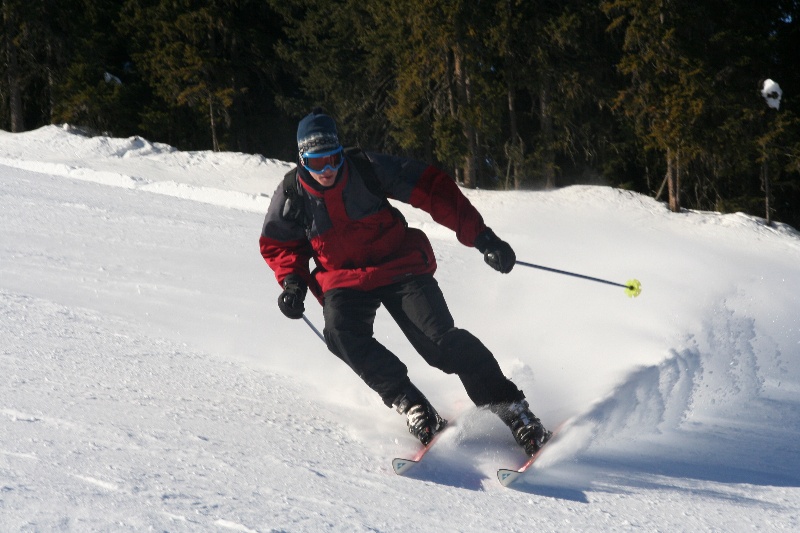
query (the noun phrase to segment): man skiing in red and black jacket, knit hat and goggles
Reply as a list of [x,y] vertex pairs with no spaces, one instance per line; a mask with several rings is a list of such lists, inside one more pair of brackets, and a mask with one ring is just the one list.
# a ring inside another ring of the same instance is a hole
[[535,454],[551,433],[494,355],[455,327],[433,277],[430,241],[406,225],[387,197],[425,210],[502,273],[516,262],[508,243],[486,227],[455,181],[436,167],[345,152],[334,120],[320,108],[299,122],[297,149],[299,164],[275,191],[259,241],[283,289],[281,312],[302,318],[310,289],[322,303],[328,349],[388,407],[406,415],[411,434],[427,445],[447,421],[411,383],[405,364],[374,338],[375,315],[383,305],[428,364],[456,374],[469,398],[496,413],[525,451]]

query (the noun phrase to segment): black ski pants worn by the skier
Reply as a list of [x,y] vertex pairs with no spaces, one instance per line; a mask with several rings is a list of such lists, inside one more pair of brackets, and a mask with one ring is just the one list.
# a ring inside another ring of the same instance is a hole
[[486,346],[468,331],[455,327],[432,275],[412,277],[371,291],[327,291],[323,313],[328,349],[347,363],[387,406],[411,382],[406,365],[374,338],[375,314],[381,304],[425,361],[456,374],[476,405],[524,398],[503,375]]

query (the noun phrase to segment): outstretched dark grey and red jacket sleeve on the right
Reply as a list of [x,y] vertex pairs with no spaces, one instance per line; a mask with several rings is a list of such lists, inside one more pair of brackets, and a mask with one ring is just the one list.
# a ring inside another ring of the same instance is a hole
[[367,155],[390,197],[428,212],[434,221],[455,231],[459,242],[475,245],[475,238],[486,229],[486,224],[446,172],[410,159]]

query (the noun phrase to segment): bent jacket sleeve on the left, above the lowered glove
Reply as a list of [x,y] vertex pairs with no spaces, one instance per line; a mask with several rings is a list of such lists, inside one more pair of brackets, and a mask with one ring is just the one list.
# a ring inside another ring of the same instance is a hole
[[309,271],[309,261],[312,257],[311,243],[306,238],[305,230],[300,223],[285,220],[281,216],[285,200],[281,183],[272,195],[261,228],[259,238],[261,256],[275,273],[275,279],[281,286],[286,276],[298,274],[311,287],[313,285]]

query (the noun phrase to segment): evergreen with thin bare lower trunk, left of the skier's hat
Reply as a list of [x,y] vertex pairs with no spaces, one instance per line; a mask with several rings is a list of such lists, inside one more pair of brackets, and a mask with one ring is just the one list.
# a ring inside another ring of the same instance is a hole
[[119,27],[133,39],[136,67],[167,112],[204,117],[211,147],[221,150],[227,133],[240,131],[234,119],[245,119],[248,71],[269,74],[260,70],[259,56],[268,51],[258,31],[268,14],[256,0],[128,0]]

